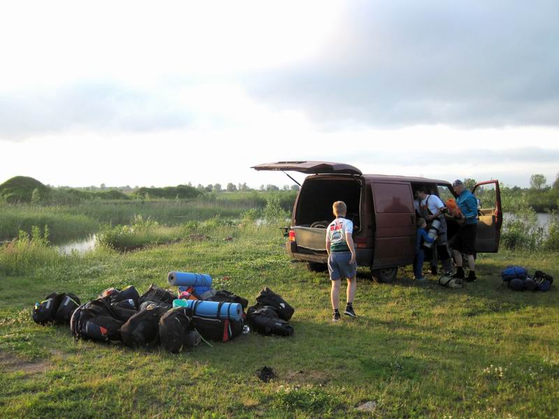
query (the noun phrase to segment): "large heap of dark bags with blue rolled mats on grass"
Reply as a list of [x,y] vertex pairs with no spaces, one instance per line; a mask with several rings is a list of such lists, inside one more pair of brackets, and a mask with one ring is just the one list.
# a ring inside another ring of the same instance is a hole
[[268,287],[256,297],[247,318],[249,301],[227,290],[214,290],[209,275],[170,272],[168,281],[179,287],[179,298],[157,285],[150,285],[142,295],[132,285],[123,290],[108,288],[86,304],[80,304],[74,294],[53,293],[35,304],[31,316],[41,325],[69,324],[79,339],[122,342],[131,348],[161,345],[170,353],[194,348],[202,340],[230,341],[249,332],[245,320],[259,334],[293,335],[287,322],[293,308]]

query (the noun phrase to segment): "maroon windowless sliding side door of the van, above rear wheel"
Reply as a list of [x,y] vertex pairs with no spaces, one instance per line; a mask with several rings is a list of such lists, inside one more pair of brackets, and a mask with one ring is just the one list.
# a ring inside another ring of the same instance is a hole
[[373,182],[375,248],[372,269],[398,267],[414,261],[416,215],[409,183]]

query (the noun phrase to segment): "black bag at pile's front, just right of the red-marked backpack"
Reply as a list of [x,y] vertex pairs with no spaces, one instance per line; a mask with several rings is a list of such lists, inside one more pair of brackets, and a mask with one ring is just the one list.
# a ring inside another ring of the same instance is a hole
[[152,307],[138,311],[120,327],[122,343],[131,348],[153,346],[158,342],[159,319],[167,308]]

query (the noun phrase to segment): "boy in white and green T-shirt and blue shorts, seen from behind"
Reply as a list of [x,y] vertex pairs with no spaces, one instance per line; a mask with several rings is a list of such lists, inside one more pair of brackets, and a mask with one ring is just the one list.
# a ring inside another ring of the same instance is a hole
[[347,213],[347,206],[343,201],[335,201],[333,213],[335,220],[326,229],[326,252],[328,252],[328,272],[332,281],[330,301],[334,310],[332,321],[340,320],[340,285],[342,277],[347,278],[347,306],[344,314],[349,317],[356,317],[353,308],[356,278],[356,255],[353,240],[354,223],[344,218]]

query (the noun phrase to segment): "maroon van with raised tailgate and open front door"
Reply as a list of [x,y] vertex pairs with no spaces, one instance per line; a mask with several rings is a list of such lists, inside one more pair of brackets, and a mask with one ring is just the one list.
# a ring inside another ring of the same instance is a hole
[[[344,201],[347,218],[354,222],[357,264],[370,267],[372,276],[381,282],[391,282],[398,267],[412,264],[414,260],[415,190],[425,187],[428,194],[437,195],[443,202],[456,198],[447,180],[364,175],[349,164],[277,162],[259,164],[253,169],[299,171],[311,175],[300,185],[293,206],[286,242],[291,257],[306,262],[313,271],[326,269],[325,229],[334,219],[332,204]],[[476,251],[495,253],[499,249],[502,225],[499,181],[477,183],[472,192],[479,203]],[[448,215],[447,228],[451,241],[458,224]]]

